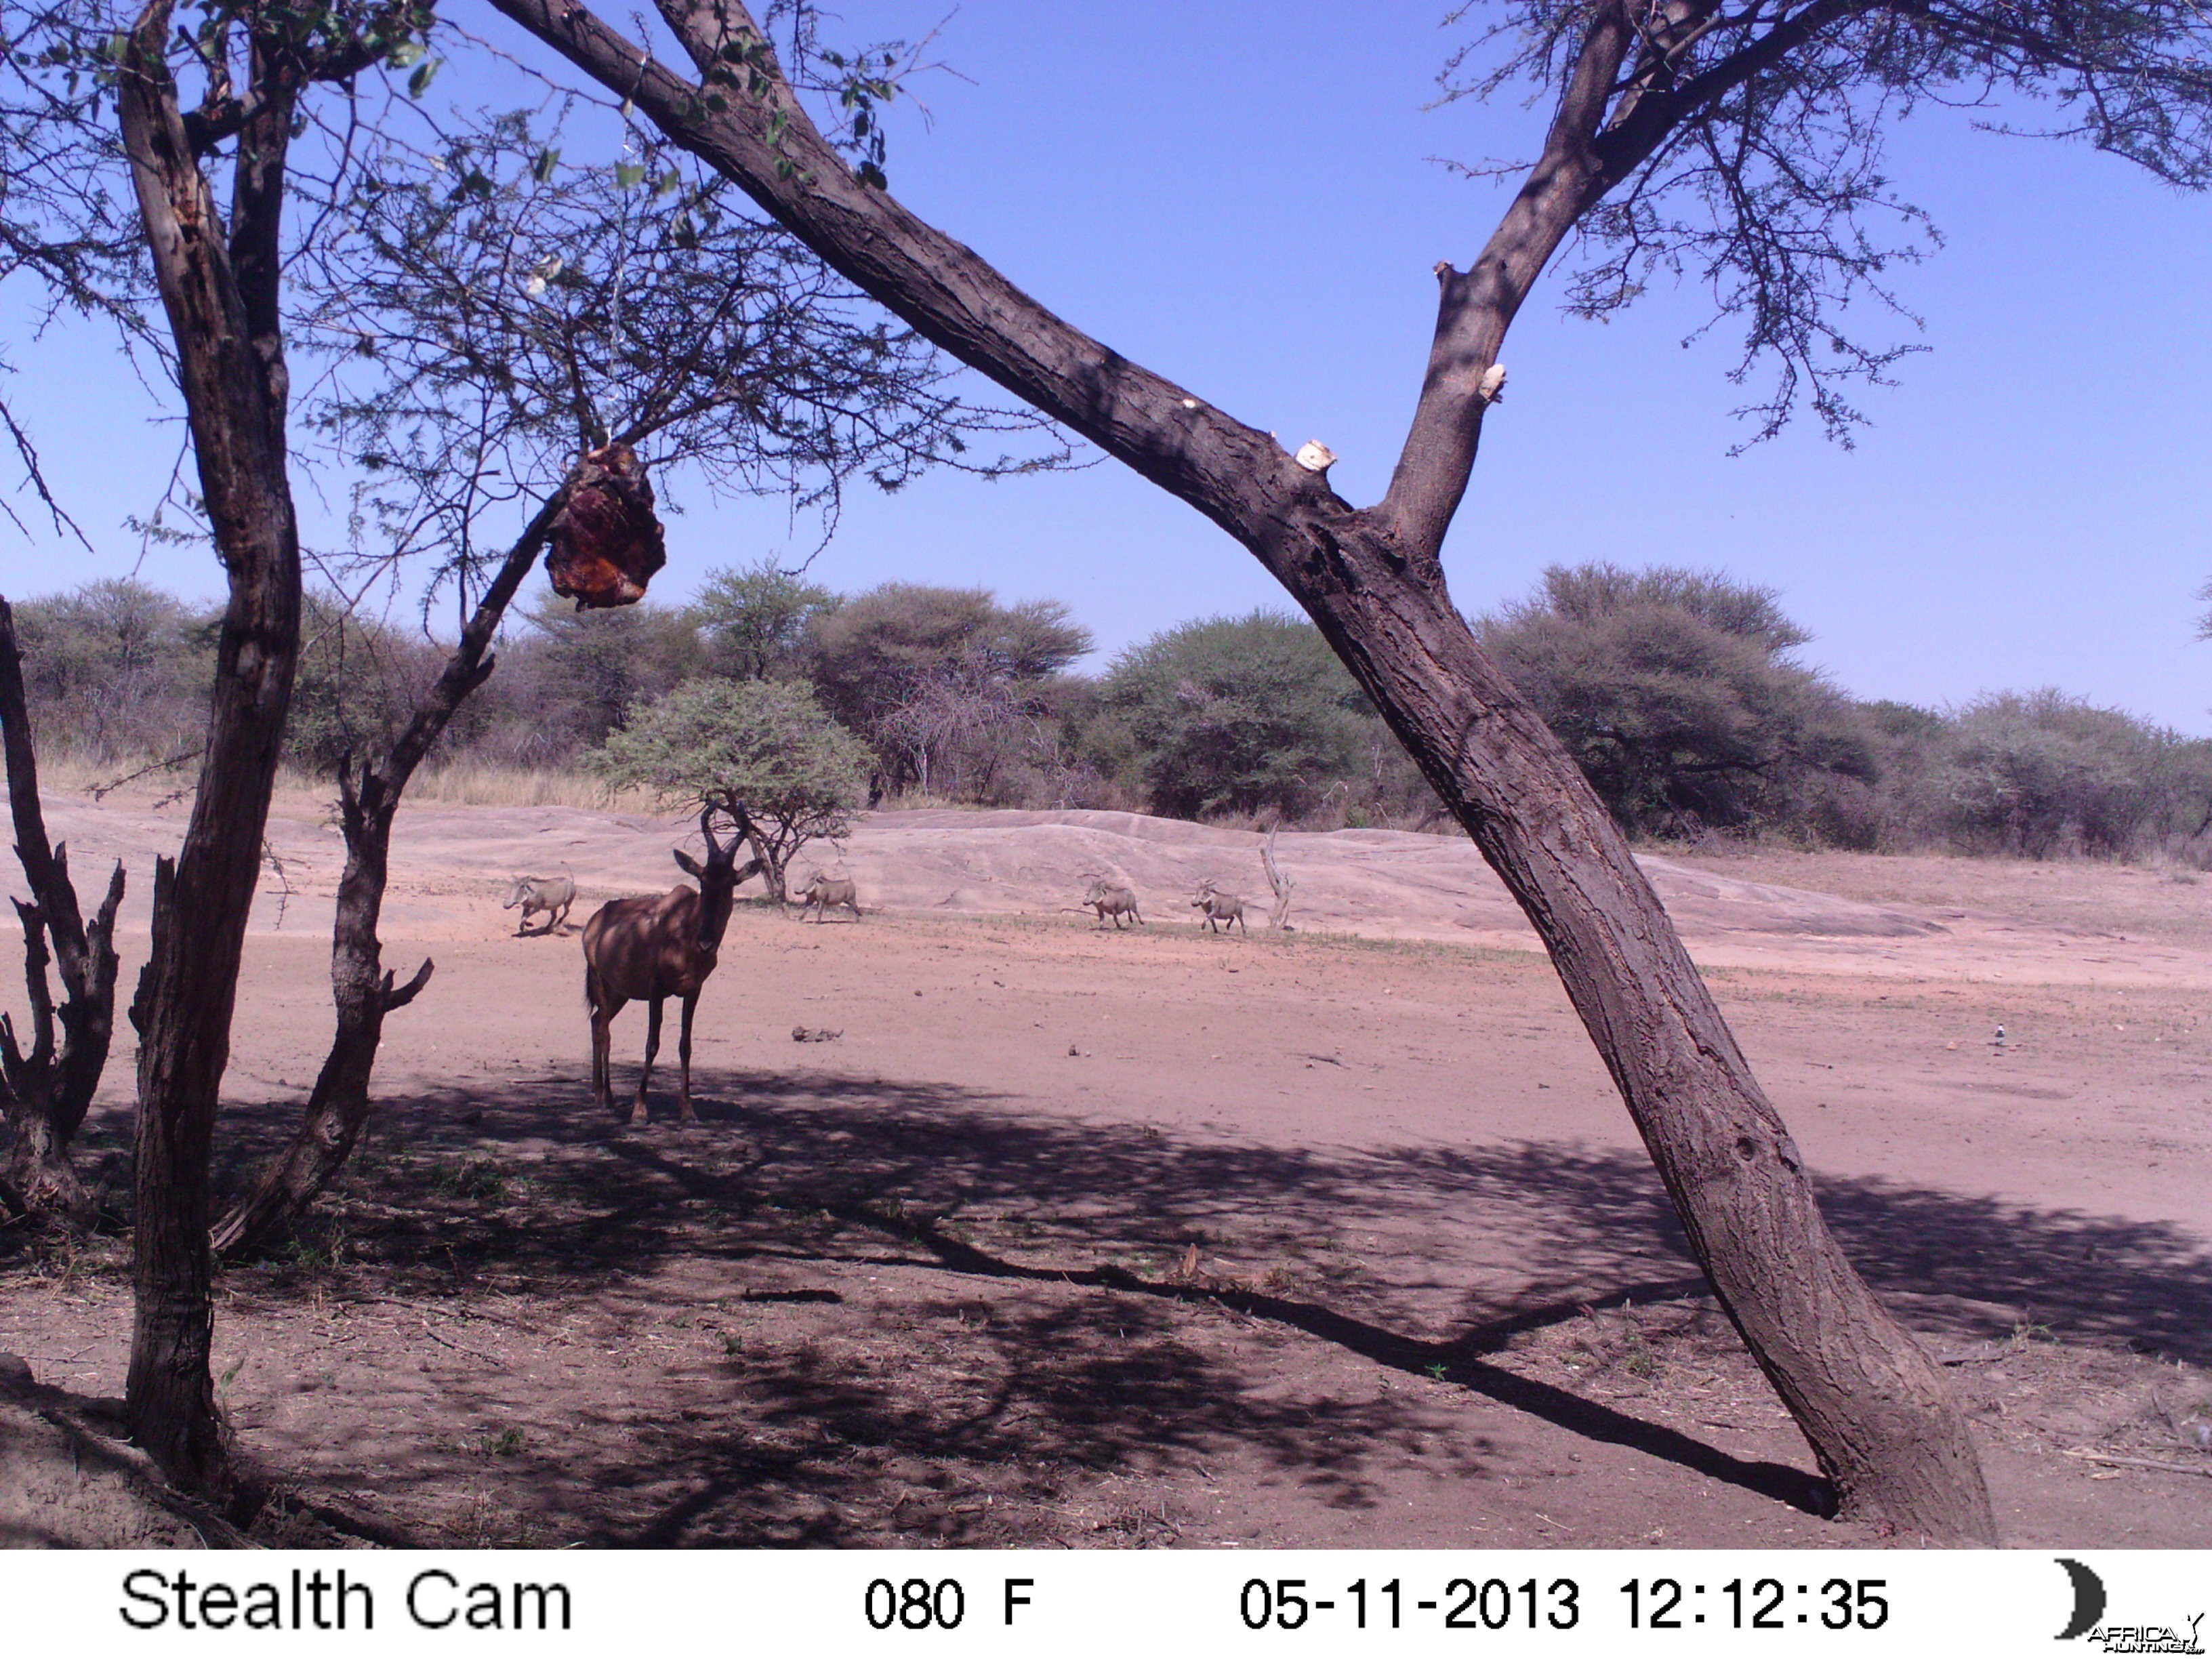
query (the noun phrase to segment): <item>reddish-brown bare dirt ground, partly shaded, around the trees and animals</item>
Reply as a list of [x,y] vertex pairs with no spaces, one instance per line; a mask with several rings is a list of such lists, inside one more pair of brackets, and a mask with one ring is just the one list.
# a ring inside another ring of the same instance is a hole
[[[126,987],[177,812],[51,810],[80,883],[131,865]],[[221,1398],[288,1486],[274,1535],[321,1515],[535,1546],[1880,1542],[1820,1517],[1803,1440],[1469,843],[1283,836],[1305,925],[1212,938],[1190,883],[1263,891],[1254,836],[883,814],[821,860],[860,880],[863,922],[739,909],[699,1011],[703,1124],[672,1124],[670,1029],[630,1130],[588,1099],[575,931],[675,880],[679,836],[564,807],[403,816],[389,960],[436,978],[387,1031],[341,1190],[219,1279]],[[226,1188],[330,1035],[336,836],[292,801],[272,849]],[[513,938],[502,878],[562,865],[571,927]],[[1650,867],[1836,1232],[1944,1360],[2004,1540],[2212,1546],[2212,880]],[[1130,876],[1148,927],[1064,914],[1091,869]],[[615,1042],[628,1088],[639,1011]],[[122,1051],[82,1141],[117,1190],[128,1084]],[[88,1517],[119,1500],[71,1498],[53,1436],[122,1391],[128,1323],[119,1237],[0,1230],[0,1354],[66,1391],[44,1420],[0,1407],[0,1540],[111,1542]]]

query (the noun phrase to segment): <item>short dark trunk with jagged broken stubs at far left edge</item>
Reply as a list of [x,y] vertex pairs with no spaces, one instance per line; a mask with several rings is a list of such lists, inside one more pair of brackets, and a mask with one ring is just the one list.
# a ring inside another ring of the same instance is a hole
[[[7,748],[15,858],[31,887],[31,902],[15,902],[31,1051],[22,1051],[13,1022],[0,1013],[0,1108],[15,1135],[0,1172],[24,1208],[84,1225],[93,1219],[93,1194],[69,1161],[69,1144],[91,1110],[115,1033],[115,909],[124,902],[124,867],[115,865],[106,898],[86,922],[77,885],[69,878],[69,847],[46,841],[15,613],[7,599],[0,599],[0,743]],[[49,964],[62,975],[60,1009],[46,982]]]

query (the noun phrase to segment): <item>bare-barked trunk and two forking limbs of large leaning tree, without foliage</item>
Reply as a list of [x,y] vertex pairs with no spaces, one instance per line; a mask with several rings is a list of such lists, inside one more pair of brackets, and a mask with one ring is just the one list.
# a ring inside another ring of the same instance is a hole
[[[1438,268],[1440,307],[1391,489],[1354,509],[1274,438],[1064,323],[969,248],[863,186],[770,73],[737,0],[659,0],[701,84],[575,0],[493,0],[672,142],[739,184],[925,338],[1221,524],[1296,597],[1551,951],[1681,1212],[1699,1263],[1812,1442],[1845,1509],[1993,1542],[1964,1418],[1820,1219],[1790,1133],[1683,951],[1619,827],[1444,591],[1491,367],[1575,221],[1668,133],[1694,86],[1608,102],[1635,42],[1599,4],[1544,155],[1473,268]],[[1814,11],[1814,9],[1807,9]]]

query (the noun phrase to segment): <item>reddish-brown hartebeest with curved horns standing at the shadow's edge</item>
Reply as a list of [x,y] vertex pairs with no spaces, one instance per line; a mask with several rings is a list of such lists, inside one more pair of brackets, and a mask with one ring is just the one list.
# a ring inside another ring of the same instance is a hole
[[759,869],[759,863],[737,867],[737,852],[750,830],[745,810],[737,807],[737,834],[728,845],[714,841],[714,810],[699,814],[706,836],[701,865],[681,847],[677,865],[697,887],[672,887],[659,898],[611,898],[584,922],[584,1000],[591,1004],[591,1088],[599,1106],[613,1110],[613,1026],[624,1002],[646,1002],[646,1068],[637,1077],[637,1104],[630,1124],[646,1121],[646,1086],[653,1082],[653,1055],[661,1046],[661,1002],[684,998],[684,1031],[677,1037],[677,1119],[697,1124],[690,1108],[690,1022],[699,1006],[699,987],[714,971],[721,933],[730,925],[730,902],[737,883]]

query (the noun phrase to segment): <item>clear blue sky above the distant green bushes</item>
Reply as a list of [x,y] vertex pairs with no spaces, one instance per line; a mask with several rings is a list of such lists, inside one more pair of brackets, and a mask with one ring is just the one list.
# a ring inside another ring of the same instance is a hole
[[[1431,265],[1464,265],[1500,206],[1429,157],[1524,155],[1542,113],[1425,111],[1455,35],[1442,7],[1301,27],[1276,4],[1029,0],[865,4],[854,35],[918,35],[953,73],[894,117],[891,188],[1062,316],[1290,447],[1325,440],[1354,502],[1380,493],[1433,323]],[[456,66],[440,88],[473,91]],[[495,93],[484,82],[484,97]],[[575,148],[571,159],[582,159]],[[1553,562],[1719,566],[1783,593],[1812,661],[1863,697],[1962,701],[2064,686],[2212,732],[2212,201],[2079,146],[1975,133],[1924,111],[1891,175],[1949,246],[1898,274],[1931,352],[1867,392],[1856,451],[1801,422],[1730,458],[1743,400],[1723,325],[1681,338],[1701,294],[1655,290],[1608,325],[1557,314],[1546,279],[1513,327],[1447,544],[1462,608],[1526,593]],[[20,312],[0,314],[20,341]],[[139,560],[122,529],[175,460],[175,425],[102,336],[15,345],[9,398],[100,549],[0,526],[0,591]],[[714,564],[805,546],[776,502],[712,504],[668,480],[684,597]],[[312,491],[310,535],[330,533]],[[1237,544],[1133,473],[856,491],[816,577],[984,584],[1066,599],[1113,650],[1186,617],[1281,604]],[[212,595],[208,553],[144,575]]]

